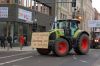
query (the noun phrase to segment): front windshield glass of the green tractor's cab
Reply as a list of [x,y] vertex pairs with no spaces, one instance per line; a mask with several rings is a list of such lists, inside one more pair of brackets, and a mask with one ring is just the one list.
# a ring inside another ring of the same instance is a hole
[[63,29],[64,27],[68,27],[68,22],[58,21],[58,22],[54,22],[52,25],[52,29]]

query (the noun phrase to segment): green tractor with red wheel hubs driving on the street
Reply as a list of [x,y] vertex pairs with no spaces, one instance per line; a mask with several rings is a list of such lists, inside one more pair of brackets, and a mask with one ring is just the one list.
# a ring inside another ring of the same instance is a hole
[[57,56],[65,56],[73,48],[77,54],[87,54],[89,34],[78,28],[79,23],[75,19],[54,22],[49,32],[48,48],[37,48],[38,53],[48,55],[52,51]]

